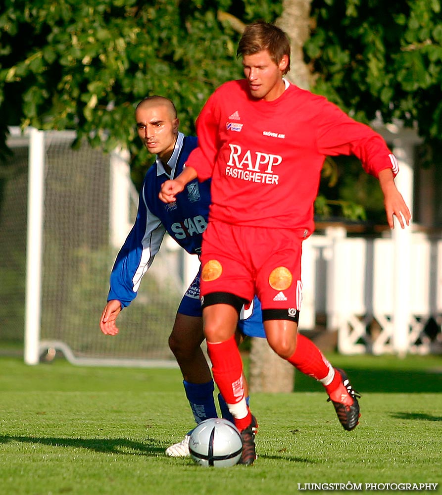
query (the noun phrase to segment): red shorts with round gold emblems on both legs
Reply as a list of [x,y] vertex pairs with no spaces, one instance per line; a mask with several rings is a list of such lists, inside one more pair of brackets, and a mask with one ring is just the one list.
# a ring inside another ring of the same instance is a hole
[[227,292],[262,309],[300,309],[304,231],[210,221],[201,247],[201,296]]

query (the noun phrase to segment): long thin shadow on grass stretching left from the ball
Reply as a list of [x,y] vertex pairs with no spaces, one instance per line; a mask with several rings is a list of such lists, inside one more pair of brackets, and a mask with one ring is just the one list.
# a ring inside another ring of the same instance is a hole
[[164,454],[165,446],[147,438],[145,442],[134,442],[124,438],[114,439],[85,439],[85,438],[54,438],[54,437],[17,437],[10,435],[0,436],[0,444],[22,442],[28,444],[47,445],[53,447],[79,447],[103,453],[122,455],[157,456]]

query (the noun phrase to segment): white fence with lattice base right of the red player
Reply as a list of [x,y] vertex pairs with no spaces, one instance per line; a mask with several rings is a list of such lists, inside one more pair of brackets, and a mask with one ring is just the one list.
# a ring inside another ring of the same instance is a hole
[[314,316],[325,313],[344,354],[440,352],[442,237],[410,232],[411,263],[401,267],[406,299],[397,301],[397,241],[387,236],[349,238],[343,227],[330,227],[304,242],[299,327],[312,328]]

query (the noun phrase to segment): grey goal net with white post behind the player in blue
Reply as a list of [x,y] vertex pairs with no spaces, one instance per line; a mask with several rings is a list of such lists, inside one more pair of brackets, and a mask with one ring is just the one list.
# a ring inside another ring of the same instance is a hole
[[[167,341],[188,282],[184,252],[164,239],[138,296],[118,316],[120,333],[104,336],[98,322],[109,274],[135,219],[138,194],[121,153],[104,154],[86,143],[72,149],[72,132],[37,133],[41,159],[32,149],[29,156],[34,161],[30,170],[42,173],[40,196],[35,191],[32,195],[39,179],[28,174],[29,134],[10,136],[13,155],[2,167],[1,306],[12,313],[9,318],[2,315],[3,338],[18,340],[25,327],[25,360],[28,352],[30,362],[36,353],[40,357],[50,349],[77,364],[174,366]],[[41,219],[36,214],[39,198]]]

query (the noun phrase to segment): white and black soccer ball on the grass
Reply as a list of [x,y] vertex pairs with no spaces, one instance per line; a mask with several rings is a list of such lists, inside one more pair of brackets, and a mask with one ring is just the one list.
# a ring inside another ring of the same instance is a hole
[[210,418],[199,423],[191,433],[189,450],[200,466],[229,467],[241,459],[243,441],[233,423]]

